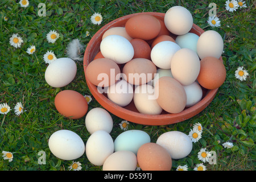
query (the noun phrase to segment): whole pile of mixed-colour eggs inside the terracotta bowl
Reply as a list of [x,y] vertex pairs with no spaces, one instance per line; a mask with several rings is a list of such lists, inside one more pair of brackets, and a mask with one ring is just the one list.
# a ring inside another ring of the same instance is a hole
[[164,19],[131,16],[104,32],[86,78],[118,106],[133,102],[142,114],[180,113],[203,98],[203,88],[217,89],[226,78],[221,35],[198,36],[192,26],[182,6],[171,7]]

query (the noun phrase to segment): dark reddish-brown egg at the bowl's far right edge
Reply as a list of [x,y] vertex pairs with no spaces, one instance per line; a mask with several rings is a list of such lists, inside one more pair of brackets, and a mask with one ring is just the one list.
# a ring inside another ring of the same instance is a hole
[[200,61],[200,73],[197,81],[206,89],[219,88],[226,79],[226,68],[216,57],[205,57]]

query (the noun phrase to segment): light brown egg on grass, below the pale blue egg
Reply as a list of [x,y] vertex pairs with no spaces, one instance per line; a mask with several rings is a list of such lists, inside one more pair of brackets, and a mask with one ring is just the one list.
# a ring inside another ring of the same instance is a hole
[[169,152],[156,143],[145,143],[139,147],[137,160],[143,171],[170,171],[172,168]]

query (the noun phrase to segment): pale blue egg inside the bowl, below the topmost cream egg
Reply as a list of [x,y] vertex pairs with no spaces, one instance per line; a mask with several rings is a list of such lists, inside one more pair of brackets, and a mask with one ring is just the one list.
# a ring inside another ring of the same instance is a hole
[[184,35],[178,35],[175,42],[180,46],[180,48],[189,48],[197,53],[197,41],[199,36],[188,32]]

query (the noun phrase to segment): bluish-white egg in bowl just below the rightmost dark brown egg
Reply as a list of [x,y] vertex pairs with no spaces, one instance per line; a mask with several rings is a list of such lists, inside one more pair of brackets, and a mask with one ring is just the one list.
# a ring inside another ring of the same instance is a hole
[[186,107],[191,107],[199,102],[203,96],[201,86],[195,81],[190,85],[183,86],[187,95]]

